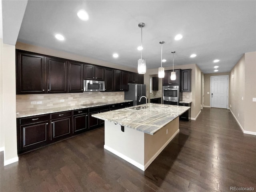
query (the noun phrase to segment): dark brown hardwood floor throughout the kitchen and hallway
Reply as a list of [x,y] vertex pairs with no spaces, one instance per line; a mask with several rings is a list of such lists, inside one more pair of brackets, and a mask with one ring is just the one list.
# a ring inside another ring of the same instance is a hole
[[256,190],[256,136],[229,110],[204,108],[143,172],[104,150],[104,128],[19,156],[3,166],[1,192],[215,192]]

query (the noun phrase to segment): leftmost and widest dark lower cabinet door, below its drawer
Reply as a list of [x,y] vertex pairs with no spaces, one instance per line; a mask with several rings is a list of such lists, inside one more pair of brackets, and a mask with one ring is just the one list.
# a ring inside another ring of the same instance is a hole
[[18,153],[42,147],[49,142],[48,121],[20,126],[18,130]]

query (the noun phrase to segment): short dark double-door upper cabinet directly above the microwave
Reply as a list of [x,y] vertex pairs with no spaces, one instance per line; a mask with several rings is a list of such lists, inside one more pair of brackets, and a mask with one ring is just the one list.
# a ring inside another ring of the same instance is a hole
[[84,79],[104,81],[104,67],[84,64]]

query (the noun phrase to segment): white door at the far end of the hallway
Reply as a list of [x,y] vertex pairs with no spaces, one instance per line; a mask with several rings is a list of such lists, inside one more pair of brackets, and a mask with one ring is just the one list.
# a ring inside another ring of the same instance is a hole
[[211,76],[211,107],[228,108],[228,76]]

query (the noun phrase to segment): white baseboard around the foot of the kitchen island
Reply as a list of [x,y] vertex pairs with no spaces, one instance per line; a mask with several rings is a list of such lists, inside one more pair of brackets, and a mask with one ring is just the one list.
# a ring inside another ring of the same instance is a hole
[[112,152],[113,154],[115,154],[116,156],[126,160],[127,162],[129,162],[130,164],[138,167],[139,169],[141,169],[142,171],[145,171],[146,168],[148,168],[148,166],[150,166],[150,164],[156,159],[156,157],[162,152],[162,150],[164,150],[164,148],[171,142],[171,140],[180,132],[180,130],[178,129],[174,134],[173,136],[168,139],[168,141],[156,152],[156,154],[154,154],[154,156],[152,156],[152,158],[150,158],[150,160],[145,164],[145,165],[142,165],[136,161],[134,161],[133,159],[129,158],[128,156],[112,149],[111,147],[109,146],[106,146],[104,145],[104,149]]

